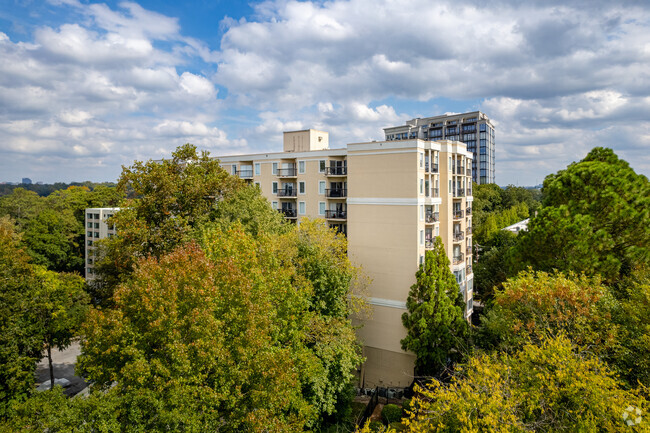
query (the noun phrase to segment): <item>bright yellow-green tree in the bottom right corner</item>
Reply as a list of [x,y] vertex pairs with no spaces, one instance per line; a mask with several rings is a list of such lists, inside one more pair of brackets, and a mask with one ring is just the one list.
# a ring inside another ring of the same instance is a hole
[[411,407],[403,421],[411,432],[645,431],[630,429],[623,414],[647,413],[639,392],[562,336],[512,357],[474,356],[450,384],[420,390]]

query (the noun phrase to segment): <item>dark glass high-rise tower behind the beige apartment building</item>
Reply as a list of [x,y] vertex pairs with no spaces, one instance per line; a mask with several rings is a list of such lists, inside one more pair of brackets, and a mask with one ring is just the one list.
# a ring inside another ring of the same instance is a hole
[[462,141],[474,154],[472,179],[477,184],[496,183],[494,177],[494,126],[480,111],[444,114],[409,120],[406,125],[384,128],[387,141]]

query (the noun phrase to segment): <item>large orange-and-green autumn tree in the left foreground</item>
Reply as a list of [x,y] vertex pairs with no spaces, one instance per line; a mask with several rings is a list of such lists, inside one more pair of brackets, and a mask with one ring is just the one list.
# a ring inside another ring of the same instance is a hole
[[[324,225],[327,235],[308,227],[309,242],[332,245]],[[114,307],[91,312],[80,365],[100,387],[117,382],[125,419],[146,430],[318,425],[361,357],[347,315],[313,308],[314,285],[298,269],[307,241],[236,224],[202,233],[202,247],[141,259]]]

